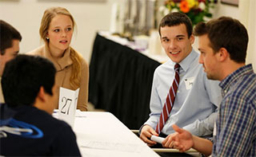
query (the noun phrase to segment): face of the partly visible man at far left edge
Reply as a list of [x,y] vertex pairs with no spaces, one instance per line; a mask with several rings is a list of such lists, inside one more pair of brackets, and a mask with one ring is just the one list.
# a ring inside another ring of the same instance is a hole
[[5,69],[6,62],[10,61],[18,55],[19,42],[19,40],[14,39],[12,47],[5,49],[5,53],[3,55],[0,54],[0,77],[2,77],[2,73]]

